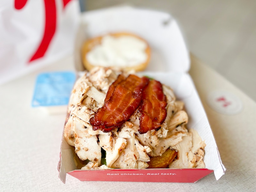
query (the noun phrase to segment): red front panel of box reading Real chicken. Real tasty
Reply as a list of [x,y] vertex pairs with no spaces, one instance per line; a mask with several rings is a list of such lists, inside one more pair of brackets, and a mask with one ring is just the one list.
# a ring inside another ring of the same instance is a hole
[[80,181],[194,183],[212,172],[206,168],[192,168],[74,170],[67,173]]

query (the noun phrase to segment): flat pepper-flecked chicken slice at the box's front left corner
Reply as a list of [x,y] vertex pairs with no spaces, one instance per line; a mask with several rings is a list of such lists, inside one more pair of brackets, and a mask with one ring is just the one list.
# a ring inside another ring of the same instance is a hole
[[93,163],[101,163],[101,148],[96,135],[88,133],[84,121],[74,117],[75,152],[81,160],[89,160]]

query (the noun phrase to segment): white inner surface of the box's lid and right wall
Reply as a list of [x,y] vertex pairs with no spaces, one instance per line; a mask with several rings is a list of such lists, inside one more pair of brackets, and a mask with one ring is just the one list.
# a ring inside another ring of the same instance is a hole
[[189,52],[179,26],[170,14],[127,6],[84,13],[75,44],[76,70],[84,70],[80,50],[86,38],[120,31],[135,33],[148,41],[151,60],[140,74],[169,85],[177,99],[184,101],[189,117],[188,129],[195,129],[206,143],[205,166],[214,170],[216,180],[220,179],[226,169],[221,163],[203,105],[187,73],[190,68]]

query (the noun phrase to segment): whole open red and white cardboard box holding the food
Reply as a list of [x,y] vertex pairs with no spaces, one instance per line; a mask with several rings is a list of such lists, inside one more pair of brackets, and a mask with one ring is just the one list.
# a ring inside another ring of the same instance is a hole
[[60,179],[65,182],[68,173],[81,181],[196,182],[212,172],[216,180],[220,179],[226,169],[221,163],[203,105],[188,74],[189,52],[178,24],[170,14],[126,6],[82,14],[75,44],[77,72],[84,71],[80,52],[86,38],[119,31],[141,36],[150,45],[151,60],[140,74],[170,86],[177,100],[185,103],[189,118],[187,128],[196,130],[206,144],[205,168],[81,170],[83,162],[63,134],[58,165]]

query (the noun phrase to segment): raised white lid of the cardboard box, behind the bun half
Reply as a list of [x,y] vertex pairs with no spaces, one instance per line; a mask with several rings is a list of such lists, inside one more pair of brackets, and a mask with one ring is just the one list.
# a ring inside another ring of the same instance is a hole
[[[86,38],[111,32],[131,32],[151,47],[146,71],[188,72],[189,53],[177,22],[165,12],[129,6],[85,12],[81,16]],[[80,37],[81,41],[81,37]]]

